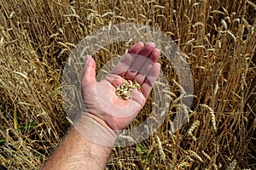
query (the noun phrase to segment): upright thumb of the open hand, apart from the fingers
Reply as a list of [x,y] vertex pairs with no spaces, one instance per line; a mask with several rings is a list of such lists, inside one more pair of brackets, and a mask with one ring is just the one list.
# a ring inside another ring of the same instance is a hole
[[84,74],[82,82],[96,82],[96,63],[95,60],[90,56],[85,56]]

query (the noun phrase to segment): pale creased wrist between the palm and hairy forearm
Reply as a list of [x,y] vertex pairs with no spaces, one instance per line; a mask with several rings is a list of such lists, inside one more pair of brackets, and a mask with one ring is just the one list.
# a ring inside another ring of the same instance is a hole
[[117,139],[117,134],[108,126],[108,123],[89,112],[84,112],[74,127],[84,138],[96,144],[112,147]]

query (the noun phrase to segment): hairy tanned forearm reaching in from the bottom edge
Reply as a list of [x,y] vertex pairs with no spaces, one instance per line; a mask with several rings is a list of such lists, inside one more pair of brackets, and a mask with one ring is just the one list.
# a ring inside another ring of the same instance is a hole
[[[88,127],[88,124],[82,121],[76,126]],[[73,127],[69,131],[60,147],[55,150],[55,153],[49,158],[42,170],[103,169],[106,166],[113,147],[92,142],[91,139],[85,138],[77,130],[78,128],[80,127]],[[85,128],[84,133],[89,131],[88,129]],[[93,132],[93,127],[90,126],[90,129]],[[102,138],[102,140],[105,139]],[[111,138],[111,140],[114,143],[114,138]]]

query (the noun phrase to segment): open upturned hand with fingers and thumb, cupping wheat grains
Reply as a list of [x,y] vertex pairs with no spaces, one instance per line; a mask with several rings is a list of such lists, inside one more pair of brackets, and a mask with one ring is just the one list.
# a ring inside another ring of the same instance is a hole
[[[120,133],[127,127],[143,108],[148,94],[160,73],[157,59],[160,50],[153,42],[146,45],[137,42],[130,48],[119,63],[101,82],[96,82],[96,63],[90,55],[86,55],[84,75],[81,88],[85,111],[82,116],[99,123],[103,128],[109,128]],[[141,92],[131,90],[131,99],[119,99],[116,88],[126,80],[136,81],[141,85]],[[87,121],[84,121],[88,123]],[[90,123],[89,123],[90,124]]]

